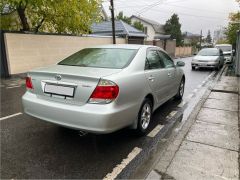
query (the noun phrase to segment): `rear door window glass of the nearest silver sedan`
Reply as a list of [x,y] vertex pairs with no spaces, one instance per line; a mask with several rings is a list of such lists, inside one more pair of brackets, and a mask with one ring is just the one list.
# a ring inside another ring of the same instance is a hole
[[164,68],[164,64],[160,59],[157,50],[149,50],[145,63],[145,69],[159,69]]

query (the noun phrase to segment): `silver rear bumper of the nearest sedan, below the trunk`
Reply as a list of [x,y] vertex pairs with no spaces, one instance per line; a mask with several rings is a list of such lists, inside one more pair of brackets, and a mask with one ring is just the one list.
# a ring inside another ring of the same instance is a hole
[[63,104],[38,98],[26,92],[22,97],[24,112],[30,116],[93,133],[110,133],[131,125],[137,117],[135,106],[114,108],[113,104],[82,106]]

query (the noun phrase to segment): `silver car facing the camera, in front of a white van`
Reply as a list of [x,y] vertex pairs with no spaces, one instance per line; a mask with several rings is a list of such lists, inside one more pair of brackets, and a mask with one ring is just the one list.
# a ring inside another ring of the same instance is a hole
[[219,70],[224,64],[224,56],[221,49],[205,48],[198,52],[192,59],[192,70],[196,68],[212,68]]

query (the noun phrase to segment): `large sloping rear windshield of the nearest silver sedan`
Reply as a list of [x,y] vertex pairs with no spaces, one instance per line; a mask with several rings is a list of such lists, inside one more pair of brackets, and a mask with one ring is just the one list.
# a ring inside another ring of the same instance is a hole
[[136,55],[136,49],[87,48],[59,62],[59,65],[122,69]]

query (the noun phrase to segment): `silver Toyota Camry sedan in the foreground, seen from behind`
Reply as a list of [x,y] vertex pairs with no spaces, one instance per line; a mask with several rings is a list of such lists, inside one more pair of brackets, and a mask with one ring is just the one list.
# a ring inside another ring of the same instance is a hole
[[152,113],[184,93],[184,62],[145,45],[82,49],[58,64],[28,72],[25,113],[72,129],[146,133]]

